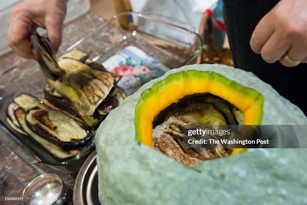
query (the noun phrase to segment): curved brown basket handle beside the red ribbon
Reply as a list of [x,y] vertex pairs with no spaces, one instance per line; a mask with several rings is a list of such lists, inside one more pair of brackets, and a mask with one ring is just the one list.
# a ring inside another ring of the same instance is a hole
[[[208,25],[208,27],[207,27],[207,29],[208,29],[208,49],[212,50],[212,49],[214,49],[213,22],[212,22],[211,16],[208,13],[204,13],[203,17],[201,18],[201,21],[200,21],[198,34],[200,35],[200,37],[202,39],[204,39],[204,37],[205,37],[206,25]],[[201,50],[199,52],[198,56],[197,56],[197,61],[196,61],[197,64],[200,64],[202,54],[203,54],[203,52]]]

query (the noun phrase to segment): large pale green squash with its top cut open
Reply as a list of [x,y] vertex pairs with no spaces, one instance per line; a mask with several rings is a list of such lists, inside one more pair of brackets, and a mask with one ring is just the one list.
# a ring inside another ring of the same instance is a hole
[[307,124],[307,117],[252,73],[188,65],[142,86],[99,126],[102,204],[306,204],[307,149],[235,149],[187,167],[153,149],[153,120],[195,93],[212,93],[243,111],[245,124]]

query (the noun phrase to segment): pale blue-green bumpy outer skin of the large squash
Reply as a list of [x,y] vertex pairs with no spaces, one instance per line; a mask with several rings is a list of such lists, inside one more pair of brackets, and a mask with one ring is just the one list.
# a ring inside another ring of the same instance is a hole
[[99,200],[102,204],[303,204],[307,202],[307,149],[249,149],[185,167],[139,143],[135,107],[141,93],[171,73],[219,73],[264,97],[262,124],[307,124],[307,117],[252,73],[225,65],[188,65],[143,85],[99,126]]

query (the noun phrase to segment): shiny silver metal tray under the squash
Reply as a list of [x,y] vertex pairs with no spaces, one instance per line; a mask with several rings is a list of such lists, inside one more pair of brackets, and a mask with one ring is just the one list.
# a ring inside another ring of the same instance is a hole
[[73,202],[76,205],[99,205],[97,152],[94,151],[84,162],[75,182]]

